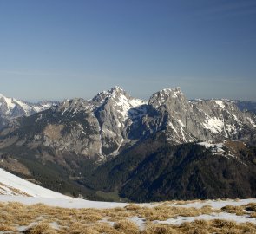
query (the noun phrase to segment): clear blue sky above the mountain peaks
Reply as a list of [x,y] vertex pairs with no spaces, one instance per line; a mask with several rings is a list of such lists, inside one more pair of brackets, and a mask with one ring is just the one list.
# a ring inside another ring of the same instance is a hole
[[255,0],[0,0],[0,93],[256,101]]

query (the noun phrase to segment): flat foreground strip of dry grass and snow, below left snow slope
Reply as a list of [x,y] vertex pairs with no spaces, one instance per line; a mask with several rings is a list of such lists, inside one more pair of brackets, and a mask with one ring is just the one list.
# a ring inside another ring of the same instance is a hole
[[124,204],[2,195],[0,233],[256,233],[256,198]]

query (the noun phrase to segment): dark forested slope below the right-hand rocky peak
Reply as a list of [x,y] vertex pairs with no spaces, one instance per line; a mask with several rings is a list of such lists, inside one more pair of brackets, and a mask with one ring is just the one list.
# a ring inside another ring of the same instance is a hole
[[84,183],[136,202],[255,197],[256,149],[237,141],[221,144],[225,150],[212,152],[194,143],[145,140],[99,166]]

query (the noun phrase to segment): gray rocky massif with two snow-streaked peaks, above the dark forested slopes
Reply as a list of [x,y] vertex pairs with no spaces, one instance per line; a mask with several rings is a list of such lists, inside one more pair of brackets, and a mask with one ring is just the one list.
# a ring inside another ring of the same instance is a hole
[[145,102],[115,87],[89,101],[64,101],[13,126],[2,133],[2,146],[16,137],[15,144],[94,159],[114,157],[158,133],[172,144],[223,139],[256,143],[255,115],[241,112],[233,101],[188,101],[180,88],[163,89]]

